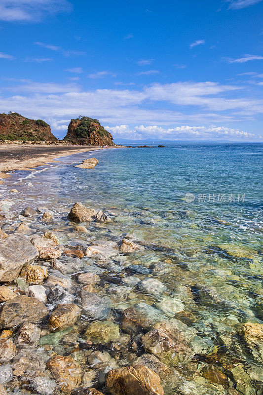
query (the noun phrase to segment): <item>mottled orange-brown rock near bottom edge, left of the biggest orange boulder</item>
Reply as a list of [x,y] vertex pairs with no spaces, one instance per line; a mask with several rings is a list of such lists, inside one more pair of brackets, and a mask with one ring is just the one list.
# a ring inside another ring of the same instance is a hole
[[80,386],[82,370],[71,356],[52,356],[46,364],[60,390],[70,394]]

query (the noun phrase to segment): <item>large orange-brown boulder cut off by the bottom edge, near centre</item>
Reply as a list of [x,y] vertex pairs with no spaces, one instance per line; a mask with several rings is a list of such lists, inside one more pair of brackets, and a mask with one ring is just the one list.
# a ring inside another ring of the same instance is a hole
[[110,370],[105,383],[112,395],[164,395],[160,377],[143,365]]

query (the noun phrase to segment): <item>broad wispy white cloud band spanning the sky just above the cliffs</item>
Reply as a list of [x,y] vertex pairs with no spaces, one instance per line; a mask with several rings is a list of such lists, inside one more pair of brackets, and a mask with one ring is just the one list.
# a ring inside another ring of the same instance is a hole
[[[165,130],[189,123],[224,125],[226,122],[255,120],[257,114],[263,114],[263,100],[240,97],[240,86],[210,81],[85,91],[74,83],[40,83],[24,79],[18,82],[16,86],[12,82],[11,86],[2,87],[2,91],[9,92],[9,97],[0,97],[2,111],[11,110],[29,118],[48,119],[53,129],[57,128],[56,125],[61,126],[60,121],[66,125],[65,119],[70,121],[79,114],[98,118],[103,124],[155,125],[162,128],[166,125]],[[10,91],[15,95],[10,95]],[[234,98],[230,99],[231,95]],[[139,133],[140,129],[133,131]]]

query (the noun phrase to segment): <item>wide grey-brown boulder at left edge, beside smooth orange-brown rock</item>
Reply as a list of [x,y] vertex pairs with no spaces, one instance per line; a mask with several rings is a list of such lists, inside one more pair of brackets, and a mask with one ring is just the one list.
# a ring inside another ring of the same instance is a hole
[[47,314],[47,308],[38,299],[16,296],[4,303],[0,313],[0,328],[13,328],[25,321],[37,323]]

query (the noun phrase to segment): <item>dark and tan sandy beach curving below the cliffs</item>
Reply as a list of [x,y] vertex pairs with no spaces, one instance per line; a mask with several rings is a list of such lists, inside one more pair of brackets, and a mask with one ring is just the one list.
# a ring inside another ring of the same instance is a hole
[[115,148],[115,146],[107,146],[107,148],[100,148],[99,146],[71,146],[69,148],[69,146],[64,145],[39,146],[38,144],[0,146],[0,179],[11,177],[11,175],[6,174],[8,171],[32,170],[38,166],[51,163],[56,158],[109,148]]

